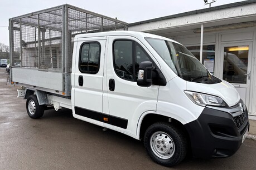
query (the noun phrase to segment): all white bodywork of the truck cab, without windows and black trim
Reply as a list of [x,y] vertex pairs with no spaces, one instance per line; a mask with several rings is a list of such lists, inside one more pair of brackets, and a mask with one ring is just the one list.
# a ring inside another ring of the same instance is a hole
[[[197,91],[225,100],[229,106],[236,104],[240,97],[235,88],[227,82],[221,84],[201,84],[186,82],[177,77],[170,67],[158,56],[144,37],[162,38],[146,33],[118,31],[107,33],[80,34],[75,37],[73,54],[72,108],[75,118],[99,126],[114,129],[139,139],[139,129],[147,114],[160,114],[186,124],[197,119],[204,107],[191,102],[185,90]],[[117,76],[113,66],[113,42],[115,39],[131,39],[146,50],[154,62],[161,68],[167,80],[166,86],[139,87],[136,82],[126,81]],[[170,39],[167,39],[170,40]],[[78,69],[79,49],[85,41],[98,41],[102,46],[100,70],[97,74],[81,74]],[[78,77],[83,75],[84,87],[78,86]],[[115,80],[115,90],[109,91],[109,79]],[[127,129],[95,121],[75,114],[74,107],[90,109],[99,113],[128,120]]]

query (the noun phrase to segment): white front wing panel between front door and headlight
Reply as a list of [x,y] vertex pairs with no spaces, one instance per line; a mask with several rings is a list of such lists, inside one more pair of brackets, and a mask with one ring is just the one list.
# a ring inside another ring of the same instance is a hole
[[166,86],[161,86],[157,102],[157,113],[174,118],[182,124],[195,121],[204,107],[193,103],[184,93],[185,90],[189,90],[189,88],[186,87],[186,81],[180,77],[175,77],[167,82]]

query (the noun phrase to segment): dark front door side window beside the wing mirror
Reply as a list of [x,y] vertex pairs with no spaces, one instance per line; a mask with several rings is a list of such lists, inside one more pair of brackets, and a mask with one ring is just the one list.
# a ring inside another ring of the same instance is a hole
[[150,61],[148,54],[137,42],[129,40],[115,41],[113,50],[117,75],[128,81],[137,81],[139,64]]

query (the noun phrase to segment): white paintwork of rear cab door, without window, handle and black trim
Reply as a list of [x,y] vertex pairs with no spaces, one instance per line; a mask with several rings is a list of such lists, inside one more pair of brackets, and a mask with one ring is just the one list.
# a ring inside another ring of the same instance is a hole
[[[74,78],[72,83],[74,83],[71,97],[74,99],[73,104],[73,116],[79,119],[84,119],[77,114],[75,114],[74,106],[80,108],[86,108],[91,111],[102,113],[102,101],[103,101],[103,69],[104,69],[104,56],[105,56],[105,44],[106,37],[99,36],[93,38],[83,38],[76,37],[76,42],[74,48],[76,53],[78,54],[75,59],[75,65],[73,65],[74,72],[72,73],[72,77]],[[101,51],[100,51],[100,67],[99,71],[96,74],[86,74],[81,73],[79,71],[79,51],[80,47],[84,42],[99,42]],[[84,83],[83,87],[79,86],[78,78],[79,76],[83,76]],[[88,118],[86,118],[88,119]],[[85,119],[84,119],[85,120]],[[89,119],[88,122],[95,123],[95,120]],[[99,123],[101,126],[103,123]]]

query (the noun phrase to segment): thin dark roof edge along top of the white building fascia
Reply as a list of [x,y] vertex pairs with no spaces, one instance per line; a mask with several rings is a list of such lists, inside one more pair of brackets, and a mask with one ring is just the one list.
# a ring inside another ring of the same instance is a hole
[[244,6],[244,5],[252,4],[252,3],[256,3],[256,0],[247,0],[247,1],[229,3],[229,4],[224,4],[224,5],[221,5],[221,6],[216,6],[216,7],[211,7],[211,8],[204,8],[204,9],[196,9],[195,11],[183,12],[183,13],[173,14],[171,16],[165,16],[165,17],[148,19],[148,20],[145,20],[145,21],[129,23],[128,27],[137,26],[137,25],[140,25],[140,24],[145,24],[145,23],[150,23],[150,22],[162,21],[162,20],[166,20],[166,19],[185,17],[185,16],[190,16],[190,15],[193,15],[193,14],[217,11],[217,10],[220,10],[220,9],[239,7],[239,6]]

